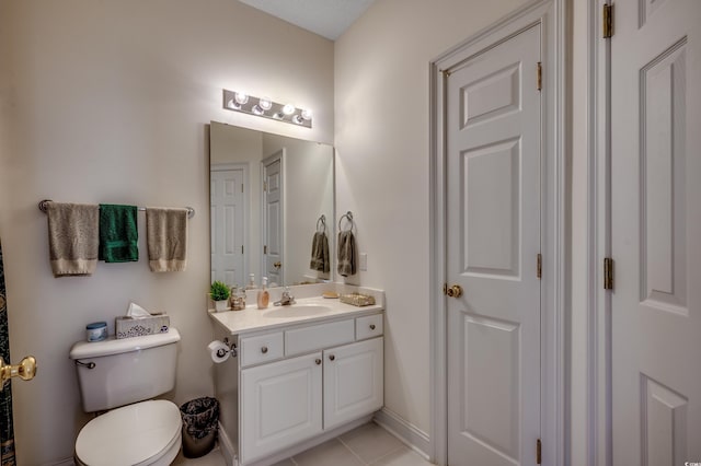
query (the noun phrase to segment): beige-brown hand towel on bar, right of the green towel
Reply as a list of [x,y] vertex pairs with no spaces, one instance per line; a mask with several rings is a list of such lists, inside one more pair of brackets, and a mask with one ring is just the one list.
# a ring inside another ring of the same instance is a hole
[[183,271],[187,266],[187,209],[146,208],[146,243],[151,271]]

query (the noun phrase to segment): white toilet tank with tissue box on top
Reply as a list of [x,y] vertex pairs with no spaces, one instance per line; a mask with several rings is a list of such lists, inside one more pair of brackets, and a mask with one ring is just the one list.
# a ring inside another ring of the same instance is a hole
[[83,411],[93,412],[141,401],[175,386],[180,334],[103,341],[78,341],[70,350],[76,362]]

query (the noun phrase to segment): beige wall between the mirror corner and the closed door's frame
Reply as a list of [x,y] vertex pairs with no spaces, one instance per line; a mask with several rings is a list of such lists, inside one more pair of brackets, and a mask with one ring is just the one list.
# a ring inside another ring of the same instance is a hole
[[525,1],[377,0],[335,46],[336,212],[384,289],[384,403],[430,434],[428,67]]

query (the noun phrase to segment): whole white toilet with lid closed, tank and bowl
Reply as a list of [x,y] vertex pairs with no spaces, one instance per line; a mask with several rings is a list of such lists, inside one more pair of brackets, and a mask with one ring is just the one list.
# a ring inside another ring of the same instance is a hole
[[88,342],[70,350],[85,412],[105,411],[76,440],[74,461],[88,466],[166,466],[181,447],[179,407],[151,399],[175,386],[180,334]]

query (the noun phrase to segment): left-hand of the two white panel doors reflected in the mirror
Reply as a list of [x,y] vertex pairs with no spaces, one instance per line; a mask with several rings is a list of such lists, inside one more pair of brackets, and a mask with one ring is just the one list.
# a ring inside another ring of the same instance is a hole
[[212,166],[210,176],[211,281],[243,286],[244,170]]

